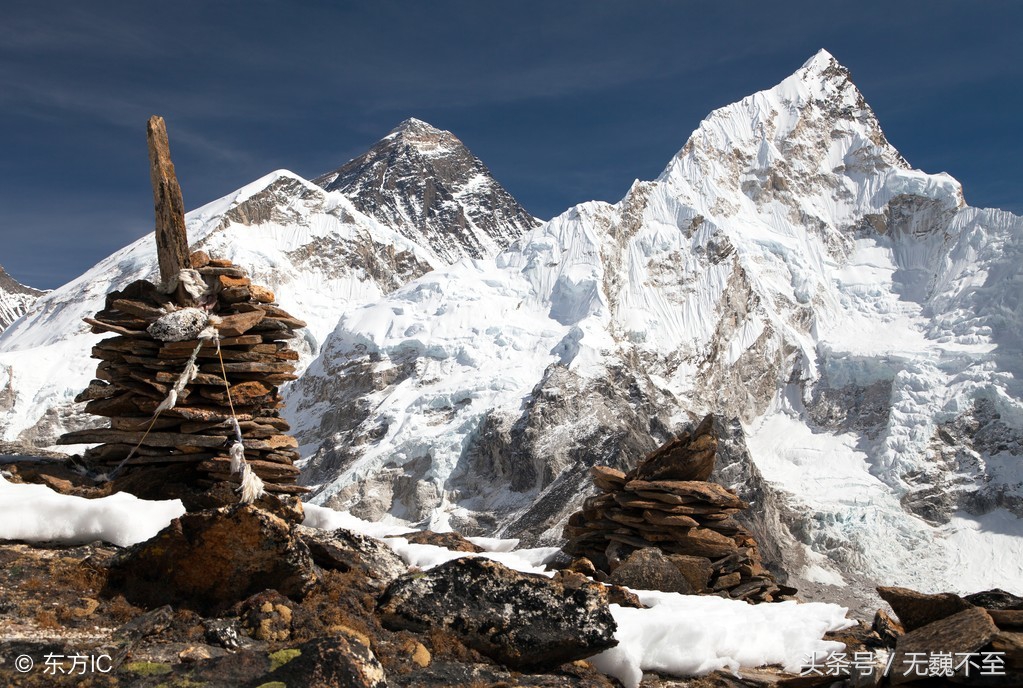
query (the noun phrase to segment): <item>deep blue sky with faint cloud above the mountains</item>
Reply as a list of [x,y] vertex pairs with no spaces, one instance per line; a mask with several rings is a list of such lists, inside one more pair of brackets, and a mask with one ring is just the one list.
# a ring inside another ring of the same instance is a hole
[[0,264],[58,286],[151,229],[145,121],[185,204],[307,178],[417,117],[527,210],[616,201],[712,109],[819,48],[909,163],[1023,214],[1023,3],[47,2],[0,21]]

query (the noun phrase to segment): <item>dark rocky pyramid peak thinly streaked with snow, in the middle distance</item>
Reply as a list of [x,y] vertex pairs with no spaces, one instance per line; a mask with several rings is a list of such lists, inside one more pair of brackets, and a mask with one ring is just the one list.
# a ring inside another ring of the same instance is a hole
[[490,258],[540,224],[451,132],[415,119],[313,182],[444,263]]

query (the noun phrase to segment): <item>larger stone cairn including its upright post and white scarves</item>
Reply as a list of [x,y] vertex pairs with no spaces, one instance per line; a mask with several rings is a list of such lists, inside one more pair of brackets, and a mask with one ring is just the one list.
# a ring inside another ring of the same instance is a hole
[[135,281],[85,319],[93,332],[116,336],[93,348],[96,379],[76,401],[108,418],[109,427],[68,432],[58,442],[98,443],[83,459],[112,478],[160,469],[160,480],[180,478],[201,490],[248,481],[247,502],[264,491],[304,493],[277,385],[297,377],[299,355],[287,340],[305,323],[230,261],[188,255],[160,118],[149,122],[149,153],[163,282]]

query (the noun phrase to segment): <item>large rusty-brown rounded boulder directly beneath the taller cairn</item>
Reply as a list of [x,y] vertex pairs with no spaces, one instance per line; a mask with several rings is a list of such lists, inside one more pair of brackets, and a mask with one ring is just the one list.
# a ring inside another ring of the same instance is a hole
[[174,519],[118,559],[109,587],[143,606],[211,610],[270,588],[300,599],[315,580],[309,548],[284,520],[237,506]]

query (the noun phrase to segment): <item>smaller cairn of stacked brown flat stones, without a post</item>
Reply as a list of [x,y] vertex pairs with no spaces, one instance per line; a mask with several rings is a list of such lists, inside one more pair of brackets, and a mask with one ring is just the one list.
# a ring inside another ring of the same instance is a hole
[[589,559],[613,582],[627,585],[616,580],[615,570],[634,553],[656,548],[687,582],[687,590],[671,592],[749,602],[791,599],[796,590],[764,568],[753,537],[732,517],[749,505],[707,481],[716,449],[713,416],[707,416],[628,473],[593,466],[590,474],[601,493],[569,518],[566,553]]

